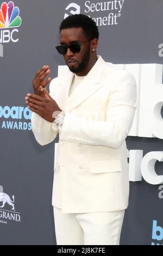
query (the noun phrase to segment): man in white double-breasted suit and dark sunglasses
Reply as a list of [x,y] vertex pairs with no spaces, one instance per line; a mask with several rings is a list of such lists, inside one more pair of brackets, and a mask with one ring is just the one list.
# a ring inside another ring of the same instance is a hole
[[128,206],[125,140],[136,83],[97,56],[98,35],[85,15],[62,21],[56,48],[70,72],[46,80],[50,70],[43,66],[26,96],[37,142],[51,143],[59,132],[52,198],[58,245],[118,245]]

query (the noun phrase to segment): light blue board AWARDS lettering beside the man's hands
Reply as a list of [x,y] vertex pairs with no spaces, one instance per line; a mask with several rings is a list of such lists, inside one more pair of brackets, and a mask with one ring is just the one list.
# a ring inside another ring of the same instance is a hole
[[32,130],[32,111],[28,107],[0,106],[0,128],[9,130]]

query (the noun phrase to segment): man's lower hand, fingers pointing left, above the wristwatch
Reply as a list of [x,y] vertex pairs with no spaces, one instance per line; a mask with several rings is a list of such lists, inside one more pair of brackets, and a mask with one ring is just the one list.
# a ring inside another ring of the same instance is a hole
[[31,111],[39,114],[42,118],[51,123],[53,123],[55,119],[52,117],[53,113],[62,111],[57,105],[57,102],[53,100],[52,97],[48,94],[45,98],[39,95],[28,93],[26,96],[26,103]]

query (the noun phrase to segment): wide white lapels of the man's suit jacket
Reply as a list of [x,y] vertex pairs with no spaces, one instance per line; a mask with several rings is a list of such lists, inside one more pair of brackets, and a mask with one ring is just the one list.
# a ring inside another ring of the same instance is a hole
[[72,79],[74,74],[70,72],[70,76],[67,79],[66,97],[65,97],[65,111],[70,112],[73,108],[79,106],[89,96],[95,93],[101,86],[101,78],[104,71],[105,62],[102,57],[98,57],[97,62],[84,78],[82,83],[74,90],[74,92],[68,96]]

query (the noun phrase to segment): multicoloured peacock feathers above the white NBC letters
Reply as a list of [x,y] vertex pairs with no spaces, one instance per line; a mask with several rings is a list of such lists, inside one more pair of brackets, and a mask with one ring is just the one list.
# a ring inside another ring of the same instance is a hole
[[6,2],[2,3],[0,9],[0,29],[1,28],[12,28],[20,27],[22,20],[18,16],[20,14],[20,9],[14,7],[14,3],[10,1],[8,4]]

